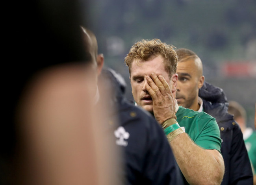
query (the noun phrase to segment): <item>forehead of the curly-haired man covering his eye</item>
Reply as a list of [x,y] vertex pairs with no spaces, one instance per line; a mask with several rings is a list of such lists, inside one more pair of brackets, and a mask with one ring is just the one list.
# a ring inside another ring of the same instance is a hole
[[164,60],[161,55],[158,55],[148,61],[134,60],[131,65],[130,72],[131,77],[150,75],[152,72],[156,75],[161,74],[164,78],[165,76],[168,76],[168,73],[165,71]]

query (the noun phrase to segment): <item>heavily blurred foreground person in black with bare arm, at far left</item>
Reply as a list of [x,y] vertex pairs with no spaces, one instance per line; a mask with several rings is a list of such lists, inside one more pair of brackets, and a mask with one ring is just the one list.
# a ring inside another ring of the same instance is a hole
[[93,109],[96,67],[82,47],[80,2],[12,6],[0,184],[117,185],[116,147],[103,132],[107,110]]

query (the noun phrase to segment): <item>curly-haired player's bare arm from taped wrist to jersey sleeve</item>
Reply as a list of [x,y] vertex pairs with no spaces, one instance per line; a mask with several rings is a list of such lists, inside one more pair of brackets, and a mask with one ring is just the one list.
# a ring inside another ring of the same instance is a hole
[[179,134],[170,144],[180,170],[189,184],[221,184],[224,161],[217,150],[201,148],[187,133]]

